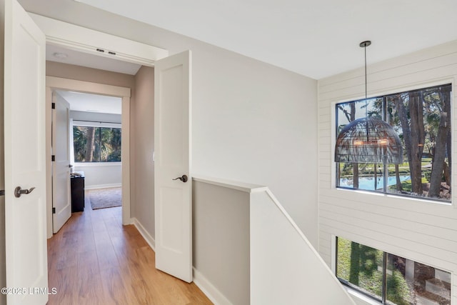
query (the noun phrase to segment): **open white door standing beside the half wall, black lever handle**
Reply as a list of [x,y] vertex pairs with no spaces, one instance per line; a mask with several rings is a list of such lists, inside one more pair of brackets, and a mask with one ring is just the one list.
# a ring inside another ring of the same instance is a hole
[[154,78],[156,268],[190,283],[191,51],[156,61]]

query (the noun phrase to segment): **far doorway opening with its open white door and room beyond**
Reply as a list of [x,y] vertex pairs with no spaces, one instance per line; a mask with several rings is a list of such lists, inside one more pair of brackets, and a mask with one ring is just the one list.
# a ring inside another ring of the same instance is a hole
[[122,99],[63,90],[52,94],[55,234],[71,212],[84,211],[85,192],[93,209],[121,206]]

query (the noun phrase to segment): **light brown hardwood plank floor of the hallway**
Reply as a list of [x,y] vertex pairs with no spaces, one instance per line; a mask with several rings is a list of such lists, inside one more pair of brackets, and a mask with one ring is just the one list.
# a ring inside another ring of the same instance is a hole
[[155,269],[155,254],[121,207],[72,214],[48,240],[53,304],[212,304],[194,284]]

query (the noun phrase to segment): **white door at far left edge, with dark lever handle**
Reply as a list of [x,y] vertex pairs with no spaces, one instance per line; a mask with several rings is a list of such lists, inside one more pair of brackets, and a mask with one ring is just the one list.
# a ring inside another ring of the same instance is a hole
[[16,0],[3,5],[6,300],[46,304],[46,39]]

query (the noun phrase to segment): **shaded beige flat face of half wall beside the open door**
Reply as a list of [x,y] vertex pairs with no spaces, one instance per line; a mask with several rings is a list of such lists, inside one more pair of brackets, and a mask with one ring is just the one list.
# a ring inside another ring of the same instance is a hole
[[250,304],[249,190],[193,181],[194,269],[215,304]]

